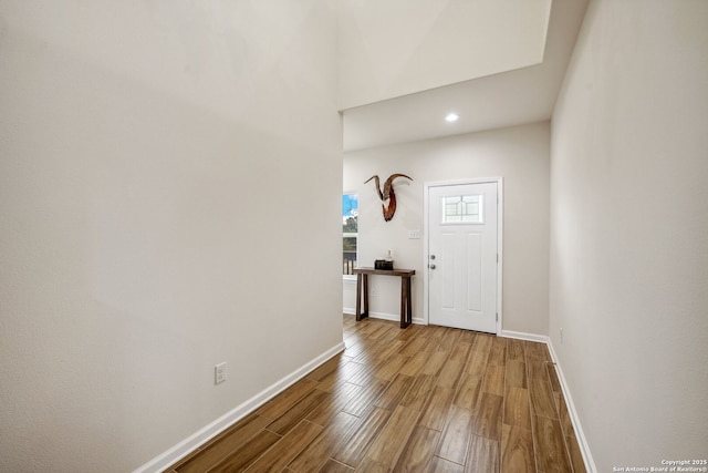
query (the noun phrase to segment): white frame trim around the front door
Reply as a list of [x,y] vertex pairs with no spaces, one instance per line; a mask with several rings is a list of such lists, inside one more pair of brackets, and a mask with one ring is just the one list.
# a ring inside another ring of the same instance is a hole
[[497,261],[497,329],[496,333],[501,333],[502,321],[502,268],[503,268],[503,177],[487,177],[487,178],[469,178],[457,181],[435,181],[423,183],[423,323],[430,323],[430,308],[429,308],[429,281],[428,281],[428,238],[429,238],[429,194],[430,187],[442,186],[456,186],[466,184],[485,184],[497,183],[497,253],[499,260]]

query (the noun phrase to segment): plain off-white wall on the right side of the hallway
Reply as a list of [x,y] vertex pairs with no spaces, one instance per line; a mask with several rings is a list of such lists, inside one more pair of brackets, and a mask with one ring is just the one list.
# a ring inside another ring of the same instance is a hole
[[600,472],[706,457],[707,20],[593,1],[553,115],[551,337]]

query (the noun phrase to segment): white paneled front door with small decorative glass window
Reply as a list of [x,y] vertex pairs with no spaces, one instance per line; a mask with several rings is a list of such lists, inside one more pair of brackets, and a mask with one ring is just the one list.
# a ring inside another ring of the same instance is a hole
[[497,183],[428,187],[428,317],[497,332]]

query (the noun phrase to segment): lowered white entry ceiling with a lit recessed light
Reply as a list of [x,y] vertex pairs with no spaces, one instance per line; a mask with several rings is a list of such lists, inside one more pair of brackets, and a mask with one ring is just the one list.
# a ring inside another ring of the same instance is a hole
[[540,64],[344,110],[344,151],[551,119],[587,1],[552,2]]

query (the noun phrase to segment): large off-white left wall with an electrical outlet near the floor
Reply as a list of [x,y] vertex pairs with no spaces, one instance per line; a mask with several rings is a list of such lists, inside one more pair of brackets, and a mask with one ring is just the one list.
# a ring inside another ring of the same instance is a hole
[[335,24],[0,3],[0,471],[129,471],[342,341]]

